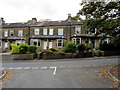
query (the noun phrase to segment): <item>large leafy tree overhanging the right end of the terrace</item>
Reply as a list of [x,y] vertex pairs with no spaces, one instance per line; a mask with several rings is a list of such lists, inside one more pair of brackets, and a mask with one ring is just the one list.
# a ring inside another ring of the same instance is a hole
[[84,2],[78,14],[85,15],[83,26],[86,32],[97,31],[112,37],[120,36],[120,1],[119,2]]

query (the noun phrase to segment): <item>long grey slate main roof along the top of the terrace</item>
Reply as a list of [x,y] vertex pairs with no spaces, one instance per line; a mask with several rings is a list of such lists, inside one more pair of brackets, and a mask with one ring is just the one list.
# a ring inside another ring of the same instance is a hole
[[31,22],[31,23],[5,23],[0,25],[1,28],[12,28],[12,27],[43,27],[43,26],[68,26],[68,25],[80,25],[81,21],[72,20],[70,21],[46,21],[46,22]]

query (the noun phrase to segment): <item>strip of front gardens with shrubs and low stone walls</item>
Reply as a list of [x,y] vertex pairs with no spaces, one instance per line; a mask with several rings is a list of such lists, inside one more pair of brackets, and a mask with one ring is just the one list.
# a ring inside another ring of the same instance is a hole
[[91,43],[81,43],[76,45],[72,41],[64,43],[64,47],[61,50],[50,48],[43,52],[37,51],[36,46],[29,46],[27,44],[15,45],[11,44],[12,55],[14,60],[33,60],[39,59],[64,59],[64,58],[82,58],[93,56],[108,56],[108,55],[120,55],[120,43],[100,43],[100,48],[93,50]]

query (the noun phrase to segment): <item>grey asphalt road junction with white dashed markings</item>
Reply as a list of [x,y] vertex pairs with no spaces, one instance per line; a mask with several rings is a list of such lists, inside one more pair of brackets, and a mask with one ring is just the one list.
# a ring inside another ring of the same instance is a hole
[[3,61],[3,68],[12,72],[3,88],[112,88],[113,82],[99,73],[119,60],[120,57]]

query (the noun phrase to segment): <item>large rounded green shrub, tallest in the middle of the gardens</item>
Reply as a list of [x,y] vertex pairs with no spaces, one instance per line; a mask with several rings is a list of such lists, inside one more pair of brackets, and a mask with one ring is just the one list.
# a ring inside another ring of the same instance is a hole
[[76,49],[76,44],[74,42],[68,41],[65,43],[63,51],[66,53],[75,53]]

